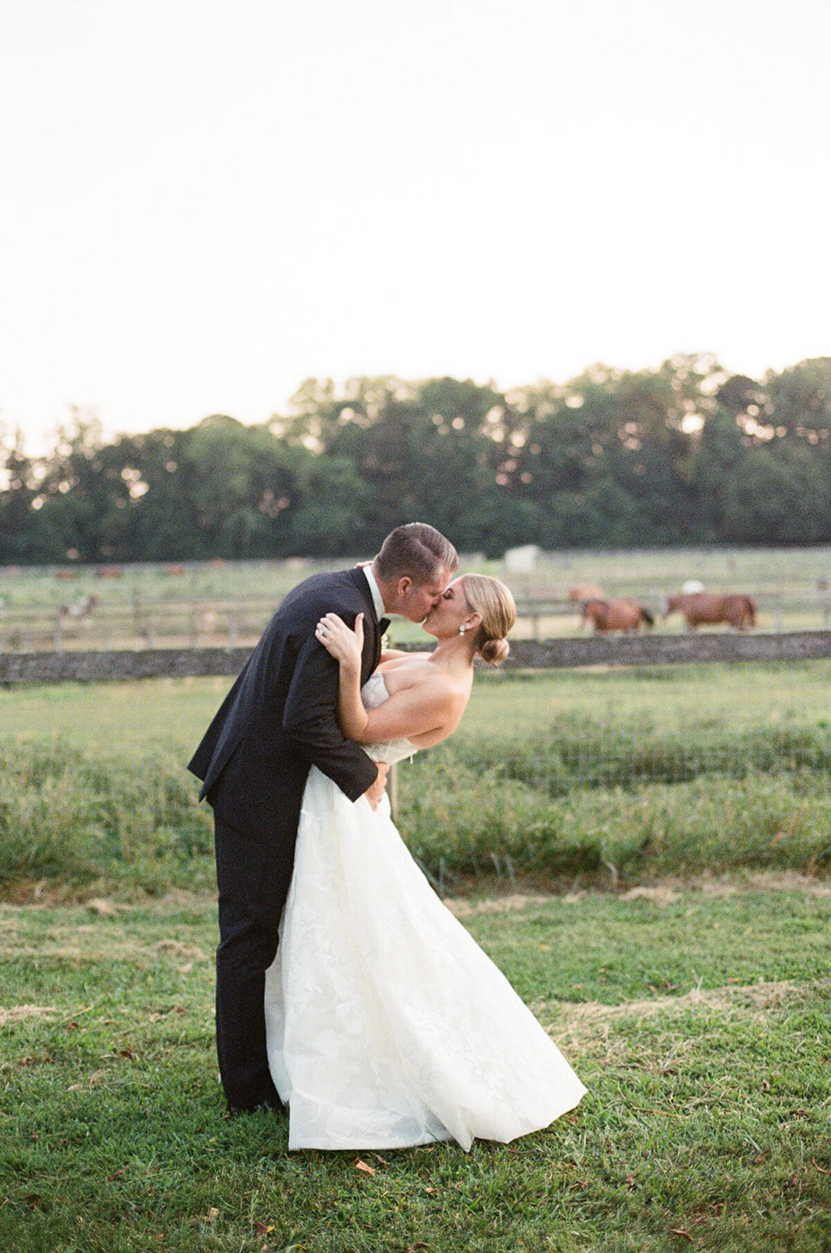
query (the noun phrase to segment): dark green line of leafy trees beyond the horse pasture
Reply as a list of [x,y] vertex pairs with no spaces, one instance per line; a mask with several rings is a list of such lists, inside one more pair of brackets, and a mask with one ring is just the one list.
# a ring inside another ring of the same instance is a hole
[[711,355],[567,383],[308,380],[287,415],[0,442],[0,563],[346,556],[402,521],[464,551],[831,543],[831,357]]

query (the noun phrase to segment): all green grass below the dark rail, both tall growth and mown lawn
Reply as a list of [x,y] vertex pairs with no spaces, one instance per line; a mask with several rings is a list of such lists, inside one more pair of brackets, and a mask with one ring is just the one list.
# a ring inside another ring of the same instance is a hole
[[401,767],[410,847],[589,1089],[469,1155],[223,1119],[184,763],[228,680],[0,690],[1,1247],[831,1253],[830,677],[483,675]]

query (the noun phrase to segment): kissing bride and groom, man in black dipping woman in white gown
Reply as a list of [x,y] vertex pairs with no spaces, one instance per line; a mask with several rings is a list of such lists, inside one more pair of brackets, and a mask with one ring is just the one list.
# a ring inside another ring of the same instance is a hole
[[[214,817],[223,1090],[232,1111],[287,1106],[290,1149],[508,1143],[585,1091],[390,816],[390,766],[450,736],[474,658],[509,652],[510,591],[457,565],[410,523],[305,579],[189,763]],[[435,649],[382,652],[387,614]]]

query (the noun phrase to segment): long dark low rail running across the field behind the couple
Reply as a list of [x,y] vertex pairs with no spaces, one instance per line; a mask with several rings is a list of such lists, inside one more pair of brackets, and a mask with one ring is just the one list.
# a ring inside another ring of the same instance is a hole
[[[419,645],[401,645],[415,649]],[[0,653],[0,684],[102,683],[238,674],[251,654],[237,648],[86,649]],[[796,662],[831,658],[831,632],[627,635],[515,640],[506,670],[676,665],[712,662]]]

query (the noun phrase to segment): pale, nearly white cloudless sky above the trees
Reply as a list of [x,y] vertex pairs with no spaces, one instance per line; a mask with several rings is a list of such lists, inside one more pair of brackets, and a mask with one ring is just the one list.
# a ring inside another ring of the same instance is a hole
[[0,422],[831,353],[828,0],[0,0]]

